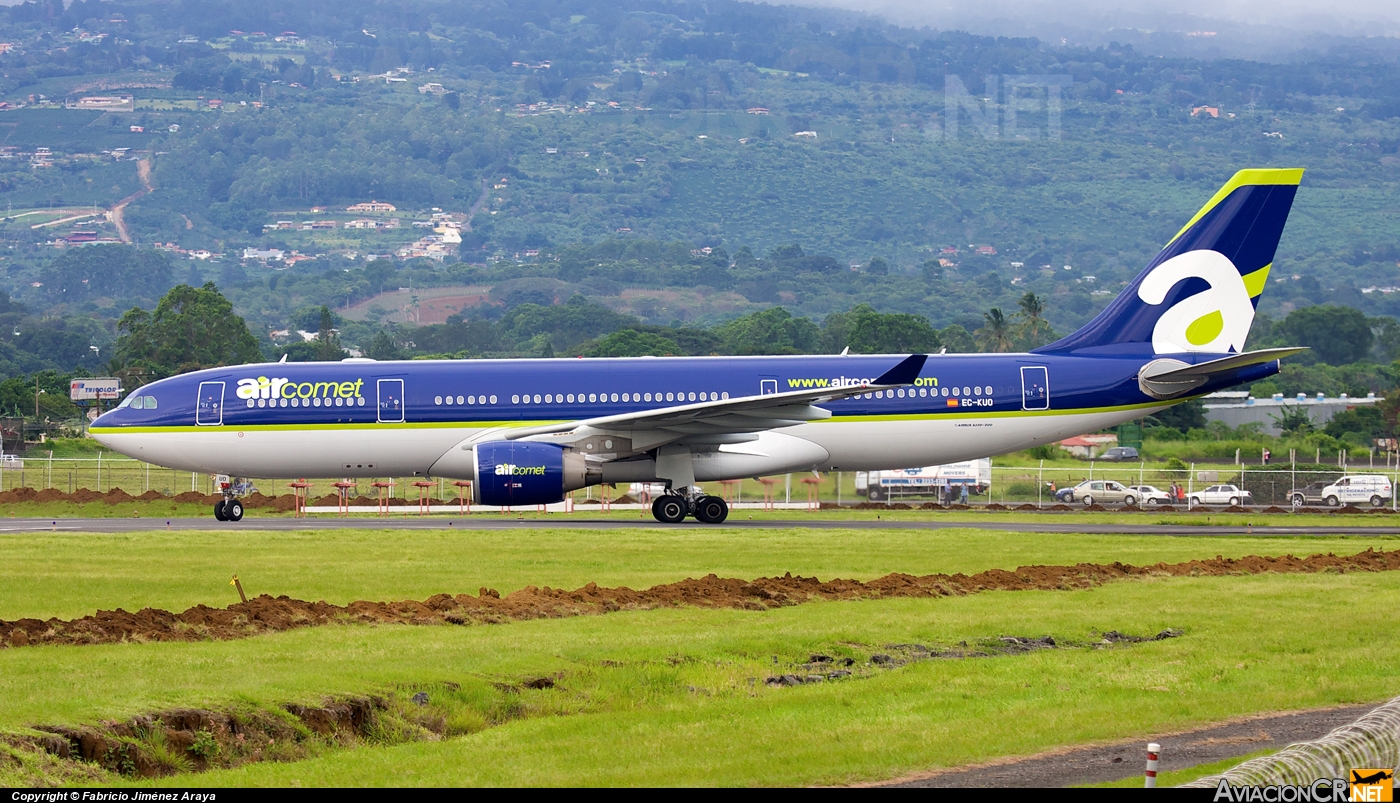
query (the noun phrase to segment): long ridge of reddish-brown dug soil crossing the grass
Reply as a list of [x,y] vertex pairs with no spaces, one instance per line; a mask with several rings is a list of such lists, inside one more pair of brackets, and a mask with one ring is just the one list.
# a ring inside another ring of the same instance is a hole
[[225,609],[195,606],[183,613],[141,609],[98,611],[77,620],[21,618],[0,621],[0,648],[39,644],[113,644],[123,641],[207,641],[234,639],[262,632],[286,631],[339,623],[365,624],[497,624],[532,618],[594,616],[617,610],[650,610],[696,606],[767,610],[809,600],[858,600],[886,597],[965,596],[987,590],[1071,590],[1134,576],[1228,576],[1256,574],[1379,572],[1400,569],[1400,550],[1368,548],[1354,555],[1310,555],[1298,558],[1249,555],[1159,562],[1148,567],[1127,564],[1078,564],[1072,567],[1021,567],[1015,571],[988,569],[974,575],[890,574],[861,582],[792,576],[759,578],[752,582],[707,575],[676,583],[633,590],[588,583],[564,590],[525,586],[501,597],[493,589],[477,596],[434,595],[423,602],[326,602],[295,600],[267,595]]

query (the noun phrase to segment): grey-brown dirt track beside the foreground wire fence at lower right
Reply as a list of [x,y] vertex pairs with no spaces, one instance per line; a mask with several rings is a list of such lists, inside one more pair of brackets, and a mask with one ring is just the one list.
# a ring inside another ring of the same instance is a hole
[[1348,705],[1239,719],[1173,734],[1145,734],[1133,741],[1091,744],[994,764],[914,775],[879,786],[916,788],[1050,788],[1141,778],[1147,744],[1162,746],[1159,772],[1249,755],[1324,736],[1354,722],[1375,705]]

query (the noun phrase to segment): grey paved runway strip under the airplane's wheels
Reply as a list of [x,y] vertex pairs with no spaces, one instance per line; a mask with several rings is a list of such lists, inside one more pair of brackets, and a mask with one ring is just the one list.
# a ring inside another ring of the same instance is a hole
[[[760,519],[732,518],[721,527],[739,530],[1000,530],[1012,533],[1047,534],[1091,534],[1091,536],[1400,536],[1400,526],[1221,526],[1221,525],[1095,525],[1074,522],[995,522],[938,519],[927,522],[897,520],[833,520],[833,519]],[[255,519],[242,522],[218,522],[210,518],[197,519],[0,519],[0,536],[14,533],[63,532],[63,533],[133,533],[143,530],[182,532],[228,532],[238,530],[637,530],[668,529],[678,533],[689,530],[710,530],[715,525],[686,522],[682,525],[661,525],[650,516],[645,519],[589,519],[589,518],[517,518],[500,515],[473,515],[459,518],[382,518],[382,519]]]

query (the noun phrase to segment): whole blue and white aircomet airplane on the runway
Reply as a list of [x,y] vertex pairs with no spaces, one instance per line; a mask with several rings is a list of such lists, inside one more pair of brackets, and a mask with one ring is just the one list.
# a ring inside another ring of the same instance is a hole
[[[664,523],[720,523],[699,481],[984,457],[1254,382],[1245,351],[1302,169],[1245,169],[1078,332],[1022,354],[263,362],[161,379],[98,417],[108,448],[238,477],[441,477],[480,505],[664,483]],[[237,487],[214,506],[239,520]]]

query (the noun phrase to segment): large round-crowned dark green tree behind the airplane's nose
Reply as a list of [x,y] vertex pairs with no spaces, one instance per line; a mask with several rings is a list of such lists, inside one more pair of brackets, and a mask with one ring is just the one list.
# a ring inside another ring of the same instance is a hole
[[144,368],[151,379],[263,358],[258,339],[214,283],[176,285],[154,312],[129,309],[116,330],[112,368]]

